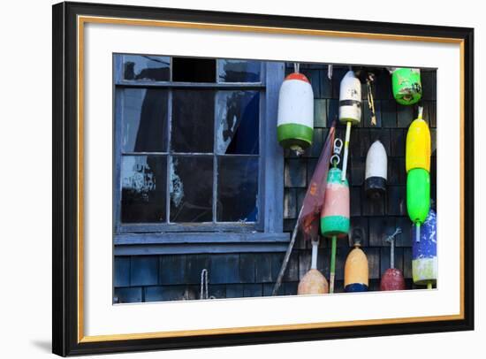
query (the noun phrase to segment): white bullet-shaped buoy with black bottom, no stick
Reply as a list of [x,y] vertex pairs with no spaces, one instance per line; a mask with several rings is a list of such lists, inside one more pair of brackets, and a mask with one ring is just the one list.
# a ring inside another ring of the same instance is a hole
[[368,197],[376,198],[386,191],[388,160],[382,142],[375,141],[366,155],[364,190]]

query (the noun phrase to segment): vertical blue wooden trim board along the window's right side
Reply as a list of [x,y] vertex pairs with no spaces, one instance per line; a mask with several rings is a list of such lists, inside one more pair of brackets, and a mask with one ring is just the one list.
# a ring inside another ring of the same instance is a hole
[[266,66],[265,119],[262,159],[264,180],[264,225],[266,233],[281,233],[284,225],[284,151],[277,142],[278,92],[285,76],[285,63]]

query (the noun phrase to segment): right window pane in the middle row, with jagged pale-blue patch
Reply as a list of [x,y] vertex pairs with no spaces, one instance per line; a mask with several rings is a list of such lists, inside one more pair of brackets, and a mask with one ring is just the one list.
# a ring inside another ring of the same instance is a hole
[[258,154],[259,104],[257,91],[216,94],[216,153]]

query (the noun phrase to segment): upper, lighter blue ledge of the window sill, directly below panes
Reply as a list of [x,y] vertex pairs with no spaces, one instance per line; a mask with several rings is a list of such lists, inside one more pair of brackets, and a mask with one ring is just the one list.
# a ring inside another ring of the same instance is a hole
[[288,243],[289,233],[125,233],[115,245],[185,243]]

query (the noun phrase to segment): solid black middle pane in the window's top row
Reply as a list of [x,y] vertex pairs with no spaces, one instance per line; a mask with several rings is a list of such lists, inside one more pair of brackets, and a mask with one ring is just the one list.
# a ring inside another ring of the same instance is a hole
[[172,57],[172,80],[216,82],[216,60],[214,58]]

